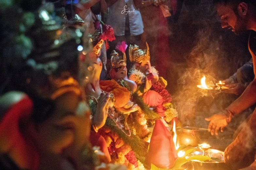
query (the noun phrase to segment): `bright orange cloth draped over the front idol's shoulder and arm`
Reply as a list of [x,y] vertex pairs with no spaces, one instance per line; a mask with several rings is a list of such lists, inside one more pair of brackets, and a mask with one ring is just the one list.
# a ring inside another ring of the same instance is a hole
[[125,106],[130,100],[130,91],[128,91],[127,88],[120,86],[115,80],[100,81],[100,88],[115,95],[116,108]]

